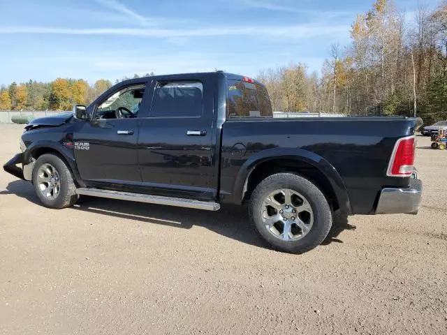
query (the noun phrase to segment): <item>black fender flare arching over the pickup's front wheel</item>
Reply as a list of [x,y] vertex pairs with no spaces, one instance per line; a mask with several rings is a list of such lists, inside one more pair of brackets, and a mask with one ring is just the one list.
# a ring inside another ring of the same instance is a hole
[[29,147],[27,147],[27,149],[24,151],[23,161],[31,162],[34,154],[42,149],[50,149],[50,151],[56,151],[58,154],[64,157],[64,159],[70,166],[71,172],[73,172],[73,177],[75,178],[75,180],[81,187],[85,187],[85,183],[80,177],[78,166],[75,162],[75,154],[73,149],[69,149],[59,142],[43,140],[31,143]]

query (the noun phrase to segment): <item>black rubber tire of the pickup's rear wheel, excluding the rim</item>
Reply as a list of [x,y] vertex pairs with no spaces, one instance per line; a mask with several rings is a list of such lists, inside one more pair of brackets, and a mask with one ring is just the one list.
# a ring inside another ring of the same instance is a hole
[[[304,196],[313,211],[312,228],[298,240],[284,241],[274,236],[263,222],[263,202],[279,189],[290,189]],[[332,227],[332,210],[323,193],[311,181],[292,173],[272,174],[256,186],[249,203],[249,216],[261,237],[273,248],[287,253],[305,253],[320,245]]]

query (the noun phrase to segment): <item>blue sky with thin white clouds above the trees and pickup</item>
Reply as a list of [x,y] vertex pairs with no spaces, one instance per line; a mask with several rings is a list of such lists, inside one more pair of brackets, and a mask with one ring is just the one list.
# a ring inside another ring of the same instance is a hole
[[[428,5],[436,0],[426,0]],[[396,0],[408,15],[418,0]],[[319,70],[372,0],[0,0],[0,84],[214,70]]]

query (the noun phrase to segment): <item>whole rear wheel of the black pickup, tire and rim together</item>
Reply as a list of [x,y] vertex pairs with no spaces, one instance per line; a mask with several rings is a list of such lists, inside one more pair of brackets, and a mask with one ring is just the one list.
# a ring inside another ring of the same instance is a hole
[[332,211],[320,189],[291,173],[272,174],[254,190],[251,221],[271,246],[288,253],[305,253],[328,235]]

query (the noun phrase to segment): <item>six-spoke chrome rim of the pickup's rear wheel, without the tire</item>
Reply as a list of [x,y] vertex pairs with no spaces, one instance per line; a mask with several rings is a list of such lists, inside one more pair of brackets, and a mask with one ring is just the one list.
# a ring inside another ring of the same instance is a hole
[[283,241],[302,239],[314,224],[314,211],[309,201],[288,188],[270,193],[263,201],[262,210],[265,228]]

